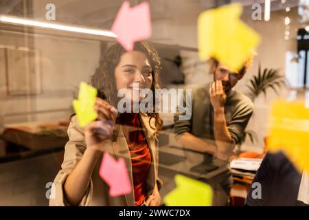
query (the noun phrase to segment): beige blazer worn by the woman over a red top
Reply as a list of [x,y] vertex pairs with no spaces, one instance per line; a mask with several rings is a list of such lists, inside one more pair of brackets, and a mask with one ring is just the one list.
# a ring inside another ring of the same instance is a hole
[[[150,195],[155,188],[157,182],[158,187],[161,188],[162,181],[158,177],[158,140],[154,135],[155,130],[149,125],[149,118],[146,114],[139,114],[141,122],[143,124],[146,140],[150,148],[152,155],[152,163],[148,171],[146,194]],[[151,123],[154,125],[155,119],[152,118]],[[61,170],[54,179],[54,186],[52,187],[51,197],[49,199],[49,206],[69,206],[67,203],[63,191],[63,186],[68,175],[73,168],[76,167],[82,155],[87,148],[84,142],[83,129],[78,125],[76,115],[71,118],[69,128],[67,129],[69,135],[69,142],[65,145],[65,156],[61,165]],[[113,155],[115,159],[120,157],[124,158],[126,167],[128,170],[128,176],[130,177],[131,186],[133,186],[132,177],[132,164],[130,159],[130,152],[126,142],[126,137],[122,131],[122,126],[119,127],[119,133],[115,142],[109,142],[106,146],[106,151]],[[80,202],[80,206],[135,206],[134,190],[127,195],[119,197],[111,197],[108,194],[109,186],[101,179],[99,175],[100,164],[102,160],[103,152],[100,155],[100,159],[96,164],[87,191]],[[78,184],[78,183],[76,183]]]

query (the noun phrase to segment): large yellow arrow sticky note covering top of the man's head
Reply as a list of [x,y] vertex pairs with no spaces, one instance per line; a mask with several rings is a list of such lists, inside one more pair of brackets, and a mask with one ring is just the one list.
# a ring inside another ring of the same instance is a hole
[[240,20],[240,4],[225,5],[202,12],[198,17],[198,53],[230,69],[241,69],[260,43],[260,36]]

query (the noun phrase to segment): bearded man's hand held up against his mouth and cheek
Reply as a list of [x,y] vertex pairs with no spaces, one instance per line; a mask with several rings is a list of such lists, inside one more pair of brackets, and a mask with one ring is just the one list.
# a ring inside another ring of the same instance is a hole
[[223,109],[225,107],[227,95],[225,94],[221,80],[216,80],[210,84],[209,95],[214,110]]

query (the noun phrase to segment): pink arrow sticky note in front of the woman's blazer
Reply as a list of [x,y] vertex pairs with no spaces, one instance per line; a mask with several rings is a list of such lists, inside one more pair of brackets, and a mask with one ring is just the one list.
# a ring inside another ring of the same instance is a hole
[[110,187],[109,195],[112,197],[125,195],[132,191],[124,158],[117,161],[109,153],[105,152],[99,174]]

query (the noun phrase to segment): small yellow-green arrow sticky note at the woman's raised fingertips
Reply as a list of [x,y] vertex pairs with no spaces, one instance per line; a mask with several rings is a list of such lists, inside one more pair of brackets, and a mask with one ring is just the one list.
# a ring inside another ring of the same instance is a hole
[[98,114],[93,109],[97,94],[97,89],[91,87],[91,85],[84,82],[80,83],[78,100],[73,100],[73,108],[81,127],[98,118]]

